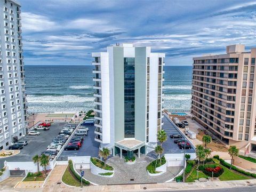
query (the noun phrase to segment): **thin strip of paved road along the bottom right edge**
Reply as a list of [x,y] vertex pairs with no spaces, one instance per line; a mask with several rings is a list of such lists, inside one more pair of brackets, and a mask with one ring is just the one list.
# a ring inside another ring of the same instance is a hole
[[[151,190],[150,190],[151,191]],[[154,190],[152,190],[154,191]],[[157,190],[158,191],[158,190]],[[182,192],[191,192],[191,191],[196,191],[196,192],[255,192],[256,191],[256,186],[251,186],[251,187],[233,187],[233,188],[215,188],[215,189],[190,189],[190,190],[165,190],[165,191],[182,191]],[[164,191],[158,191],[158,192],[164,192]]]

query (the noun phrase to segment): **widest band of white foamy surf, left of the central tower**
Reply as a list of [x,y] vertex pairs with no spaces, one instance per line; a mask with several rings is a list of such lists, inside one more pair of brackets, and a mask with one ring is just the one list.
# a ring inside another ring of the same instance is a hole
[[81,97],[78,95],[44,95],[37,97],[36,95],[28,95],[27,100],[29,103],[60,103],[60,102],[93,102],[93,97]]

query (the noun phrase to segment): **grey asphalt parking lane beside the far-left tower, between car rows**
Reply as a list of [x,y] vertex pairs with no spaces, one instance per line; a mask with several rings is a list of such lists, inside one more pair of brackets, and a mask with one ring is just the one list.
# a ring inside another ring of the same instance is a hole
[[50,130],[47,131],[39,131],[40,135],[26,135],[21,140],[28,141],[28,145],[24,146],[23,149],[20,150],[18,155],[13,157],[1,158],[0,165],[4,166],[4,161],[7,162],[31,162],[32,158],[38,154],[41,155],[43,151],[46,150],[47,146],[50,145],[53,138],[55,138],[59,132],[62,130],[64,126],[68,123],[53,123],[50,126]]

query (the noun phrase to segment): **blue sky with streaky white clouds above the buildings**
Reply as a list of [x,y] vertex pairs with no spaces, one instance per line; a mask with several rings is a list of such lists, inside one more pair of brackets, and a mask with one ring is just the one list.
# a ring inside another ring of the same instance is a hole
[[116,43],[151,46],[192,65],[226,46],[256,47],[256,1],[20,0],[25,65],[91,65]]

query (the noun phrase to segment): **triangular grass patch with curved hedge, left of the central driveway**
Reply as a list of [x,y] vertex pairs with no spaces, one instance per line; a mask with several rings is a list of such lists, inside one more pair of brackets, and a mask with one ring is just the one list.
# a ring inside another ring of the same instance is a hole
[[[81,186],[81,176],[76,173],[74,170],[73,162],[71,160],[68,161],[68,167],[65,170],[64,174],[61,178],[62,182],[71,187],[79,187]],[[82,179],[83,186],[89,186],[90,182],[86,181],[84,178]]]

